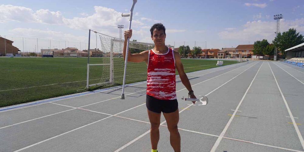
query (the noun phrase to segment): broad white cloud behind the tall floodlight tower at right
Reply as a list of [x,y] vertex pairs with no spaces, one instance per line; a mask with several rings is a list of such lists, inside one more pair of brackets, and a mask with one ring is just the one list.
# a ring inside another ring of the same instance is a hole
[[[281,19],[280,23],[280,31],[281,33],[287,31],[289,28],[296,28],[297,32],[304,32],[304,18],[288,20],[285,21]],[[227,28],[226,30],[218,33],[221,39],[227,40],[250,40],[255,41],[259,39],[268,39],[268,41],[272,41],[275,36],[276,30],[276,22],[266,22],[266,21],[253,21],[247,22],[245,25],[240,27],[239,29],[235,29],[233,31]]]

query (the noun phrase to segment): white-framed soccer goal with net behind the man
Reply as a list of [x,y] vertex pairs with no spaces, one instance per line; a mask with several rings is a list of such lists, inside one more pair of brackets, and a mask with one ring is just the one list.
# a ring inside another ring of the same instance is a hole
[[[90,42],[91,34],[93,35],[92,39],[96,38],[96,41],[92,40],[92,43]],[[122,85],[125,66],[122,54],[124,40],[93,30],[89,30],[89,37],[86,88],[92,86]],[[90,49],[90,43],[91,46],[95,47],[95,42],[96,49]],[[173,48],[173,46],[170,45],[167,47]],[[151,50],[152,48],[154,48],[154,43],[143,43],[130,40],[129,50],[131,54]],[[146,80],[146,62],[128,62],[125,80],[126,84]]]

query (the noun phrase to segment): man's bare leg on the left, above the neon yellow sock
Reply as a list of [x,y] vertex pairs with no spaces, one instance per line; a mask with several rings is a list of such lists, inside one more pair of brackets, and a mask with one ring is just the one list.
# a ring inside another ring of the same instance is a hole
[[159,141],[159,125],[161,123],[161,113],[152,112],[149,109],[147,109],[147,111],[151,123],[151,129],[150,129],[151,146],[152,149],[157,149],[157,144]]

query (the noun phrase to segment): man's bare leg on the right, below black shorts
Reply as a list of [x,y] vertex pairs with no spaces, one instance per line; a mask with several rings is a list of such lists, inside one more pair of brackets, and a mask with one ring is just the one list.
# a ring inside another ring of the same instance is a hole
[[178,109],[175,112],[163,113],[168,124],[168,130],[170,132],[170,143],[175,152],[181,151],[181,136],[178,132],[179,113]]

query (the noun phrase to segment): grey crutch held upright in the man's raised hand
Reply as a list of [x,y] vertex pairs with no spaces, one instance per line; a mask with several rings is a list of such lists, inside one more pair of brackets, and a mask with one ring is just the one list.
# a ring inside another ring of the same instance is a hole
[[[137,0],[133,0],[132,7],[130,9],[130,13],[123,13],[121,14],[122,17],[129,17],[130,16],[130,22],[129,22],[129,30],[131,29],[131,24],[132,24],[132,18],[133,18],[133,9],[136,4]],[[127,40],[127,47],[126,47],[126,59],[125,59],[125,69],[124,69],[124,74],[123,74],[123,89],[121,93],[120,99],[125,99],[125,81],[126,81],[126,68],[127,68],[127,63],[128,63],[128,51],[129,51],[129,43],[130,43],[130,38]]]

